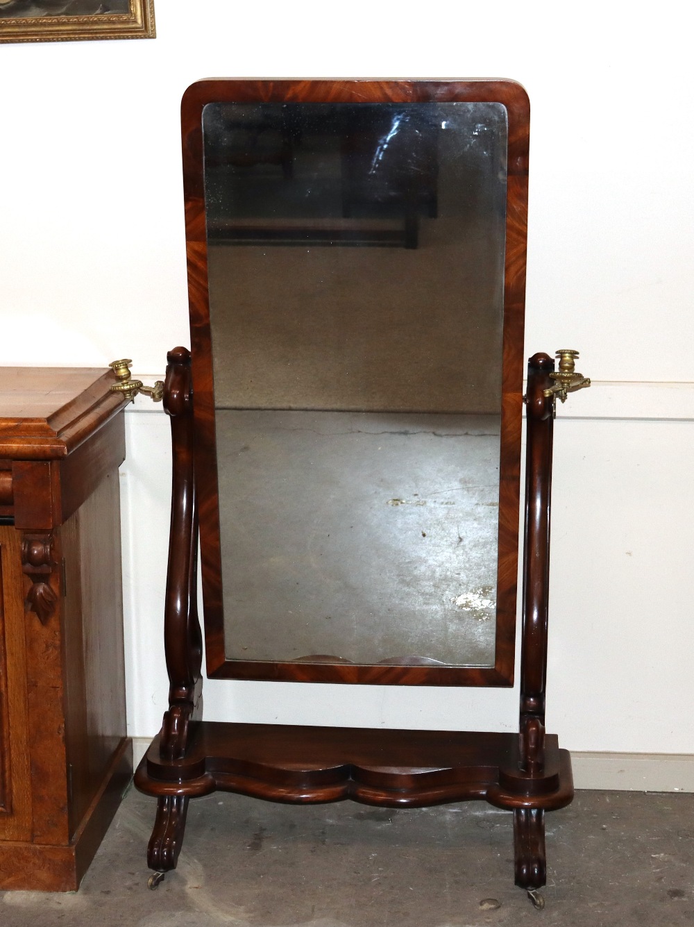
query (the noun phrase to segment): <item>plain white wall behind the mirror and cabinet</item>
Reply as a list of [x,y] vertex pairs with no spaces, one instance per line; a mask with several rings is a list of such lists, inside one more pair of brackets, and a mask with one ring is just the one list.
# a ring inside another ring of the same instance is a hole
[[[644,7],[646,9],[646,7]],[[533,107],[527,353],[602,381],[558,421],[548,726],[694,753],[692,87],[684,3],[156,0],[158,38],[0,46],[0,363],[163,372],[188,343],[180,97],[200,77],[505,76]],[[123,467],[129,723],[165,708],[168,423]],[[517,692],[208,683],[206,716],[514,730]],[[320,692],[320,697],[318,694]]]

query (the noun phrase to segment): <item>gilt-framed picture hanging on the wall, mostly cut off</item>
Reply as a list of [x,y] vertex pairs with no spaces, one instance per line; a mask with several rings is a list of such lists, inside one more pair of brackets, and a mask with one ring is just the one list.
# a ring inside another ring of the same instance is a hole
[[153,39],[154,0],[0,0],[0,43]]

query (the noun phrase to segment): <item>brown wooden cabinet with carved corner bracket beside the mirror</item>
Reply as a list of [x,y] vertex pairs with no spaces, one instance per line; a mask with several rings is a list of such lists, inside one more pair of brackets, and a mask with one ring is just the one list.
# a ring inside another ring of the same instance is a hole
[[76,889],[132,775],[114,382],[0,369],[0,889]]

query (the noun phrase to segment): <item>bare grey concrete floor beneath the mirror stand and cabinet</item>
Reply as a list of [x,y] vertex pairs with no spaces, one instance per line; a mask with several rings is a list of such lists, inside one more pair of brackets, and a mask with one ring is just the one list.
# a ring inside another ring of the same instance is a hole
[[[0,894],[5,927],[619,927],[694,921],[694,794],[579,792],[548,818],[546,908],[512,883],[511,815],[191,802],[178,870],[146,887],[153,800],[131,791],[78,893]],[[492,907],[495,899],[498,907]]]

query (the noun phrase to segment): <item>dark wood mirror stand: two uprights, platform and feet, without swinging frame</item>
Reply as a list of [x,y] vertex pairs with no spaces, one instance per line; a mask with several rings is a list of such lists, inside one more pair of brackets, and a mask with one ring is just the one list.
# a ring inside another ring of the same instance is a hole
[[137,787],[158,798],[150,867],[163,872],[176,866],[188,799],[216,790],[297,804],[349,798],[375,806],[418,807],[485,799],[514,813],[516,883],[529,890],[541,887],[546,878],[544,812],[568,805],[574,795],[569,756],[544,730],[552,404],[542,390],[551,382],[549,356],[536,355],[528,367],[519,735],[220,724],[194,717],[199,639],[191,632],[189,601],[196,527],[193,400],[188,352],[175,349],[169,361],[174,490],[168,594],[174,602],[167,606],[166,649],[171,701],[162,731],[135,775]]

